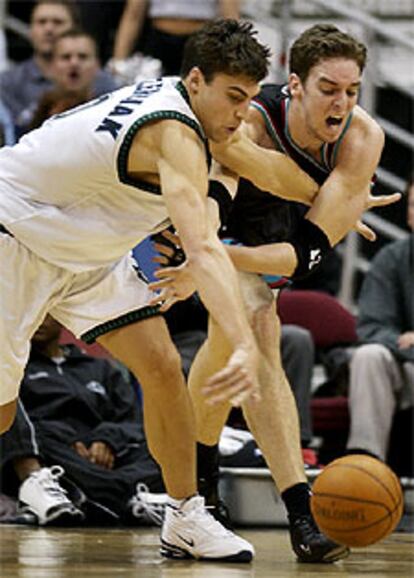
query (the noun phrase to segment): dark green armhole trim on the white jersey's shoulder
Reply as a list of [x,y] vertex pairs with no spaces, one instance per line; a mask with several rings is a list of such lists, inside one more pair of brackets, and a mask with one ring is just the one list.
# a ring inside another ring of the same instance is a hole
[[121,144],[121,147],[119,149],[117,160],[119,180],[121,181],[121,183],[124,183],[125,185],[132,185],[133,187],[138,187],[139,189],[142,189],[149,193],[155,193],[156,195],[160,195],[161,187],[159,185],[154,185],[153,183],[148,183],[146,181],[141,181],[139,179],[133,179],[128,176],[127,171],[128,155],[132,141],[135,138],[135,135],[137,134],[139,129],[144,126],[144,124],[154,120],[178,120],[186,124],[193,130],[195,130],[198,136],[202,139],[202,141],[206,146],[206,154],[208,153],[208,148],[207,148],[207,141],[205,139],[201,126],[192,118],[176,110],[160,110],[150,112],[148,114],[145,114],[138,120],[136,120],[128,129],[128,132],[126,133],[124,140]]

